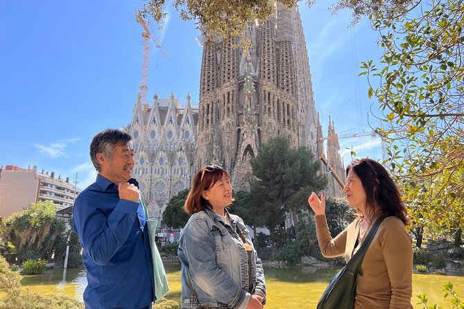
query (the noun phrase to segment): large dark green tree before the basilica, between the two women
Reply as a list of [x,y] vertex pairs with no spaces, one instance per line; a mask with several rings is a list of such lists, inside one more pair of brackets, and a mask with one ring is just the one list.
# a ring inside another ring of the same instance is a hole
[[298,236],[297,211],[307,205],[311,191],[327,185],[327,177],[319,173],[320,162],[306,148],[290,148],[288,139],[276,136],[261,145],[251,166],[257,182],[250,192],[264,225],[271,230],[281,226],[286,211],[291,211]]

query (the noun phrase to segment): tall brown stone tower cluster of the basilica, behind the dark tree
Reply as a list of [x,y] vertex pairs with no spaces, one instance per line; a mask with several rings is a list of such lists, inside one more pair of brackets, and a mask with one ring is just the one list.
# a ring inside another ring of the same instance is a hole
[[250,159],[273,136],[306,146],[316,158],[322,146],[309,60],[298,7],[250,21],[248,50],[234,39],[205,42],[200,76],[195,169],[223,166],[234,189],[248,190]]

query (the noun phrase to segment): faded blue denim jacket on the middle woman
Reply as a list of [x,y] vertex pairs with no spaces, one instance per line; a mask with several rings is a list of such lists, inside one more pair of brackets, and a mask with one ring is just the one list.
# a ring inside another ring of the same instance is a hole
[[[225,210],[227,211],[227,210]],[[227,212],[228,213],[228,212]],[[181,308],[246,308],[251,294],[266,299],[261,260],[252,247],[252,287],[248,280],[248,253],[237,229],[252,245],[248,229],[237,215],[226,224],[211,209],[191,215],[180,233],[178,256],[182,263]],[[191,284],[189,284],[189,281]],[[194,288],[194,293],[191,292]]]

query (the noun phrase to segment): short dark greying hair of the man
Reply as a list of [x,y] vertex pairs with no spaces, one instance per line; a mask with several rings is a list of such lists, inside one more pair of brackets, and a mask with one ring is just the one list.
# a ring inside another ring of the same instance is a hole
[[90,143],[90,159],[97,172],[101,170],[101,166],[98,164],[96,154],[103,153],[106,158],[111,160],[114,146],[126,145],[131,140],[132,137],[129,134],[117,129],[107,129],[96,134]]

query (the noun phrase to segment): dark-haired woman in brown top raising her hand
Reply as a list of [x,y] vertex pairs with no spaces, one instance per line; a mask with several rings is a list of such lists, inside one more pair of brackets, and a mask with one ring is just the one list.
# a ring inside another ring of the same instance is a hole
[[412,296],[413,249],[405,226],[406,207],[388,172],[372,159],[353,161],[347,167],[345,195],[356,208],[358,218],[332,238],[325,218],[325,197],[316,193],[308,198],[316,214],[316,233],[323,256],[345,256],[350,261],[364,236],[384,213],[381,223],[361,264],[356,284],[356,309],[409,309]]

